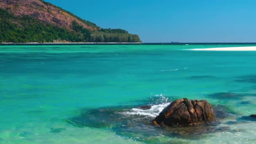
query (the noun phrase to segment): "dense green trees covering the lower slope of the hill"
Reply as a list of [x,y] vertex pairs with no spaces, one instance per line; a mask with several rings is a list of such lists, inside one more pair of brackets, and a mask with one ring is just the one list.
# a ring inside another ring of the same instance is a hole
[[[85,24],[95,24],[85,21]],[[138,35],[129,34],[123,29],[85,29],[73,21],[68,30],[52,24],[43,23],[30,16],[14,16],[13,13],[0,9],[0,43],[53,43],[67,42],[140,42]]]

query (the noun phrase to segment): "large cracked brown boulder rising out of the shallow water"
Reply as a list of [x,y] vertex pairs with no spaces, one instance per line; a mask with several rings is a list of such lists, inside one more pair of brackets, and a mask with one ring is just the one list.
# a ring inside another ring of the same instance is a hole
[[214,121],[214,112],[206,100],[177,99],[155,117],[155,125],[186,126]]

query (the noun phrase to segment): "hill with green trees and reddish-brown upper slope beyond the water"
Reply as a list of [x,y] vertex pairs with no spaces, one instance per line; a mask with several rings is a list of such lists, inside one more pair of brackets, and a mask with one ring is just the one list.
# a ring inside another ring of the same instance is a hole
[[123,29],[102,29],[43,0],[0,0],[0,43],[137,43]]

